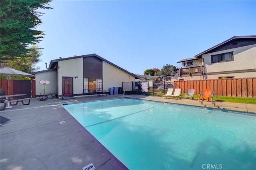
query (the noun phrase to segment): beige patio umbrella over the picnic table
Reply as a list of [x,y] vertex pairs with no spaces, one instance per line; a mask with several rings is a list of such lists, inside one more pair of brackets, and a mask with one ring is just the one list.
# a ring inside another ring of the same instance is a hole
[[34,75],[32,74],[28,74],[26,72],[23,71],[19,71],[19,70],[15,70],[14,68],[10,68],[10,67],[4,67],[4,68],[0,68],[0,75],[1,76],[7,76],[7,95],[9,95],[9,79],[10,76],[16,76],[16,77],[34,77]]

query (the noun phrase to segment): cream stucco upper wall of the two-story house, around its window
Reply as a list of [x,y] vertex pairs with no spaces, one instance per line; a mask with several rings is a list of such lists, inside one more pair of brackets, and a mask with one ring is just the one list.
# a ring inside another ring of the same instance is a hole
[[[211,55],[233,52],[234,61],[211,63]],[[256,45],[248,45],[235,49],[228,49],[202,55],[205,63],[206,74],[212,72],[256,69]],[[216,79],[220,76],[234,76],[234,78],[255,77],[256,72],[241,72],[228,74],[207,75],[207,79]]]

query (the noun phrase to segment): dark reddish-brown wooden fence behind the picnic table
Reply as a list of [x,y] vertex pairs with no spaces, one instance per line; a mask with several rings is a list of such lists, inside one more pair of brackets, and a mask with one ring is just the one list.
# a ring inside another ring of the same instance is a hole
[[[8,81],[0,80],[0,88],[7,95]],[[26,98],[36,97],[36,80],[9,80],[9,95],[11,94],[27,94]]]

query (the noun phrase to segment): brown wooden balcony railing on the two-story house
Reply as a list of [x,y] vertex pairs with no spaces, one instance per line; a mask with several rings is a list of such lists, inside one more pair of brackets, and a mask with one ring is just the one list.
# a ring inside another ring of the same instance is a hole
[[178,76],[198,76],[203,75],[204,66],[195,66],[177,69]]

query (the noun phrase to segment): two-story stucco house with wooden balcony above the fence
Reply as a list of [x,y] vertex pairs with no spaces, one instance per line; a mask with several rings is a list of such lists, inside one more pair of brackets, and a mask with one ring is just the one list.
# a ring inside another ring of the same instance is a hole
[[177,63],[178,80],[256,77],[256,35],[234,36]]

